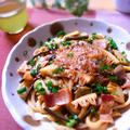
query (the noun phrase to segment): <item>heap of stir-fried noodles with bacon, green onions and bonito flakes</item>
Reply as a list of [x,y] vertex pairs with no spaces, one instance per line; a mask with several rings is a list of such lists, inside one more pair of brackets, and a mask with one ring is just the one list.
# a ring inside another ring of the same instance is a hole
[[60,31],[17,69],[29,107],[74,129],[106,129],[130,104],[130,66],[112,37]]

